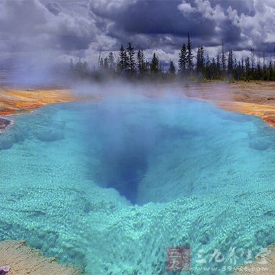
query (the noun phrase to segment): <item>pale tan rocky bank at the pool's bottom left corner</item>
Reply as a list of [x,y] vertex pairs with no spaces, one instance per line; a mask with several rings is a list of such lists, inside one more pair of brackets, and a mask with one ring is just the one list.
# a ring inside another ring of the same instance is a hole
[[61,265],[54,258],[45,258],[25,241],[0,242],[0,266],[10,267],[8,275],[79,275],[82,270],[71,265]]

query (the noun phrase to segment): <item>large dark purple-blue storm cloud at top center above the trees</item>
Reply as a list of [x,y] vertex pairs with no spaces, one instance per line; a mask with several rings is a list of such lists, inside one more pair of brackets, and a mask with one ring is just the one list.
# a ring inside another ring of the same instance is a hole
[[201,22],[195,18],[186,19],[177,6],[181,1],[137,1],[128,8],[116,10],[97,10],[91,5],[91,10],[100,17],[111,19],[112,31],[124,30],[130,34],[171,34],[185,36],[192,30],[194,36],[207,36],[212,34],[214,24],[208,28],[201,28]]

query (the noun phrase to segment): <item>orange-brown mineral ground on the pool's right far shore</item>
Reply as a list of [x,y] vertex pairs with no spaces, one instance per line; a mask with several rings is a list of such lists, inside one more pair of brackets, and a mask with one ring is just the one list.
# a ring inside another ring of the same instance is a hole
[[206,100],[227,111],[256,115],[275,126],[275,82],[212,81],[184,88],[188,98]]

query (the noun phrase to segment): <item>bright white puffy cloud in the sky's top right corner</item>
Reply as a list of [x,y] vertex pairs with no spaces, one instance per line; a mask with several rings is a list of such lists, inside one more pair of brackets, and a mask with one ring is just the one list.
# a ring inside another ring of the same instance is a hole
[[183,0],[177,8],[184,14],[196,12],[201,17],[214,21],[217,34],[226,35],[223,34],[223,24],[225,21],[230,22],[232,26],[239,28],[243,46],[261,47],[263,43],[275,43],[274,0],[254,0],[254,10],[250,14],[239,14],[230,5],[227,8],[219,4],[211,5],[208,0],[195,0],[194,4],[192,7],[188,1]]

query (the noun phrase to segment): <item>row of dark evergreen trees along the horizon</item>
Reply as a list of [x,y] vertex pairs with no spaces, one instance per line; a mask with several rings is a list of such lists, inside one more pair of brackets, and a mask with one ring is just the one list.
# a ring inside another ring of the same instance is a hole
[[179,69],[175,69],[173,61],[170,61],[166,70],[163,64],[155,53],[148,61],[143,50],[135,52],[133,45],[129,43],[126,48],[121,45],[117,61],[113,52],[109,52],[107,57],[99,59],[98,66],[93,69],[89,69],[88,64],[81,60],[76,64],[71,60],[70,69],[72,74],[80,78],[90,77],[98,80],[118,76],[130,79],[275,80],[275,62],[272,62],[271,58],[266,62],[264,53],[260,58],[260,52],[256,55],[254,49],[250,49],[250,56],[237,61],[232,50],[225,52],[222,42],[221,53],[217,54],[216,58],[205,56],[203,45],[199,45],[197,54],[194,54],[189,34],[187,43],[179,50]]

